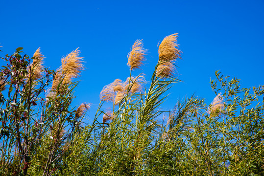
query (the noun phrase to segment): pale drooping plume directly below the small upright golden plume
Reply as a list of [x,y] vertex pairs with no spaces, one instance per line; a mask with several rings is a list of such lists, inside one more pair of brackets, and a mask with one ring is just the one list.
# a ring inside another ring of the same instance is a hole
[[131,93],[141,92],[143,90],[143,83],[145,82],[146,81],[143,75],[138,77],[131,76],[130,81],[128,77],[123,83],[124,90],[129,90]]

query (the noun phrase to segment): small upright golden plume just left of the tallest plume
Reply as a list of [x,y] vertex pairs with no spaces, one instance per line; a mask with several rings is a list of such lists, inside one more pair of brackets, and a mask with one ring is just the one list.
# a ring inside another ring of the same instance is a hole
[[130,67],[131,70],[140,68],[143,65],[143,61],[145,60],[145,52],[146,49],[143,48],[142,40],[137,40],[133,44],[131,51],[127,55],[127,65]]

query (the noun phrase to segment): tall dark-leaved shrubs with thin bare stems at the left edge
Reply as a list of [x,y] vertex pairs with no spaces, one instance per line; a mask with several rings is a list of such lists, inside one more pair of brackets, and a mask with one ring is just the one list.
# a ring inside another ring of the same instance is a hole
[[79,128],[70,107],[76,84],[43,98],[54,72],[43,68],[45,75],[35,80],[22,49],[2,58],[7,66],[2,66],[0,81],[8,92],[0,96],[0,175],[48,176],[60,169],[66,144]]

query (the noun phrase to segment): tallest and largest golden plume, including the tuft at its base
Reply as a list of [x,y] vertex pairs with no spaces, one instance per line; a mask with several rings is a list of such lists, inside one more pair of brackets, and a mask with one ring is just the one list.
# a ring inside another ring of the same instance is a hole
[[156,70],[157,77],[166,79],[175,73],[175,60],[181,58],[181,51],[178,49],[177,33],[165,37],[159,46],[159,65]]

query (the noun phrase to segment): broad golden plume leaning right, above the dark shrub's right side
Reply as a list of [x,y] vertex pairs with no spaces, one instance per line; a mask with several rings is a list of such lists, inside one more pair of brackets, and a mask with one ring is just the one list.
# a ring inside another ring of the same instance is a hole
[[84,70],[83,58],[80,57],[80,50],[75,49],[61,60],[62,65],[56,70],[52,83],[52,91],[55,91],[59,84],[70,84],[73,78],[77,78],[81,70]]

